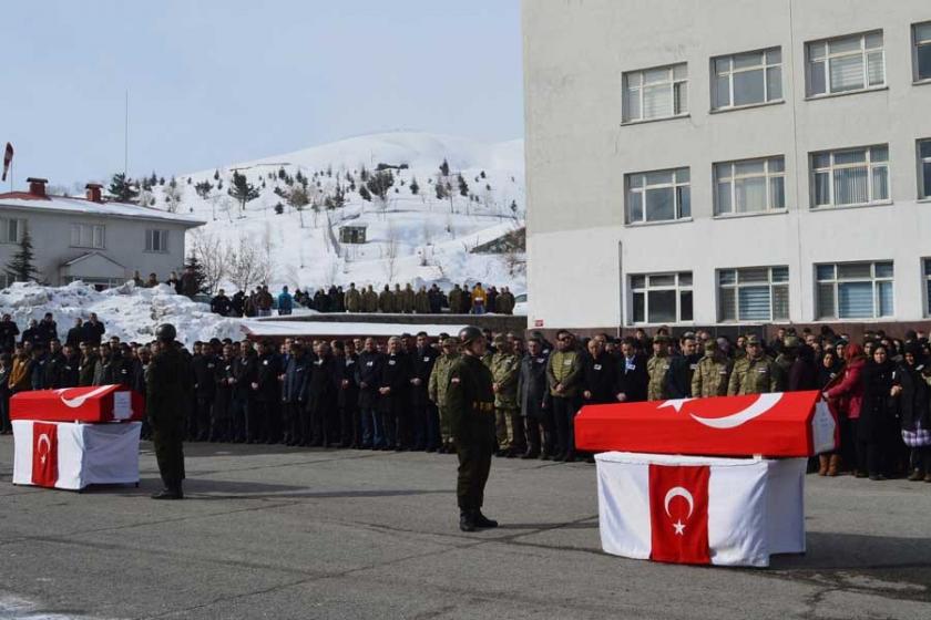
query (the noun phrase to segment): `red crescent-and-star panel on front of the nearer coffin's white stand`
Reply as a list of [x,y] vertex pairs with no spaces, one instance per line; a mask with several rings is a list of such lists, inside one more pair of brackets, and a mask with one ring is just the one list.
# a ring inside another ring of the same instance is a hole
[[707,465],[649,465],[649,559],[710,564]]

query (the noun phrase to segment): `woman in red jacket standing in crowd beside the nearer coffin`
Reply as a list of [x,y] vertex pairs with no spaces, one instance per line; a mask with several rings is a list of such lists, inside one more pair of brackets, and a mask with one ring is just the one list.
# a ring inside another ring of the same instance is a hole
[[867,359],[863,348],[856,343],[847,344],[843,348],[843,372],[835,380],[835,384],[825,391],[825,397],[832,404],[838,417],[841,420],[840,450],[830,455],[828,464],[828,476],[836,476],[840,469],[841,456],[848,464],[853,465],[855,474],[859,477],[860,471],[856,467],[857,459],[857,424],[860,418],[860,406],[863,402],[863,382],[861,375]]

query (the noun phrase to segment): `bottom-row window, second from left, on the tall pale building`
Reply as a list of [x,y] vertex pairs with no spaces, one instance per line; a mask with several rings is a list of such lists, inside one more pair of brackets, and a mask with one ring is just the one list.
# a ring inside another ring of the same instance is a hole
[[789,268],[720,269],[718,309],[720,321],[788,320]]

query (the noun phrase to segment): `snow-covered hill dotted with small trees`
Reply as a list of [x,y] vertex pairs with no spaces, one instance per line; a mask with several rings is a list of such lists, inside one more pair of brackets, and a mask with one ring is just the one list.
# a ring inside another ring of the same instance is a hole
[[[392,183],[382,197],[366,199],[362,187],[380,165],[391,166]],[[228,195],[234,174],[258,189],[244,209]],[[309,200],[300,209],[294,206],[301,202],[300,189],[293,199],[298,186]],[[252,250],[245,262],[257,264],[258,279],[274,286],[480,280],[524,290],[521,256],[469,251],[523,226],[523,141],[360,136],[182,175],[174,187],[171,179],[155,183],[142,200],[207,221],[188,236],[188,247],[207,258],[224,255],[232,267],[226,283],[247,281],[243,257]],[[344,225],[365,226],[367,242],[340,242]]]

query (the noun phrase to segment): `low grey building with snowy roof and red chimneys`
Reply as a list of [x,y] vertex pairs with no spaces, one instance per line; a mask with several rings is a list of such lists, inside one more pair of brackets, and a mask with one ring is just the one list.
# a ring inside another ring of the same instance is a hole
[[29,192],[0,194],[0,285],[2,269],[19,251],[27,227],[35,268],[44,281],[83,280],[98,288],[122,285],[139,271],[164,281],[184,266],[184,234],[204,223],[150,207],[106,203],[101,186],[88,185],[86,198],[51,196],[45,179],[30,178]]

